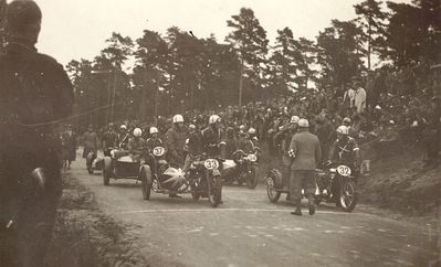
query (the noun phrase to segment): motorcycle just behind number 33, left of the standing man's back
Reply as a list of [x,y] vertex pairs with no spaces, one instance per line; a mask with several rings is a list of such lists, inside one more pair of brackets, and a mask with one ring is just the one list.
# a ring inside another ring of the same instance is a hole
[[237,182],[239,185],[246,183],[249,189],[258,185],[258,152],[245,153],[238,150],[231,160],[225,160],[222,168],[222,178],[228,183]]

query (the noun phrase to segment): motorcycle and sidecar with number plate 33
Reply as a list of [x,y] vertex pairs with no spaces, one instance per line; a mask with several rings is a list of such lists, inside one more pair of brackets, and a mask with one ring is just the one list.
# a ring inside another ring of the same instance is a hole
[[141,169],[139,179],[145,200],[150,199],[151,191],[160,194],[191,193],[193,200],[208,197],[213,207],[219,205],[222,195],[222,182],[218,159],[200,156],[191,163],[187,173],[183,173],[179,168],[162,163],[159,163],[156,173],[151,172],[148,165],[144,165]]

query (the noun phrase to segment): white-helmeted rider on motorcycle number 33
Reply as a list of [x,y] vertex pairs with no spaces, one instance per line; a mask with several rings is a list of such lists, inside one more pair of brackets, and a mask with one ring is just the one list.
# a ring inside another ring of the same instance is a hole
[[209,126],[202,130],[203,151],[209,157],[219,157],[221,154],[221,145],[224,145],[220,122],[221,118],[218,115],[211,115],[208,120]]

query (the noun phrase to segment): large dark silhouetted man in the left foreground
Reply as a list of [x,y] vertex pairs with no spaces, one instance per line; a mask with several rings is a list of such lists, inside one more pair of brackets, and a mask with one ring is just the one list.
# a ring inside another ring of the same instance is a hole
[[[35,49],[41,19],[34,1],[7,6],[8,44],[0,55],[1,266],[44,266],[62,192],[61,141],[46,121],[72,114],[73,88],[63,66]],[[27,186],[38,183],[35,173],[44,175],[40,193]]]

